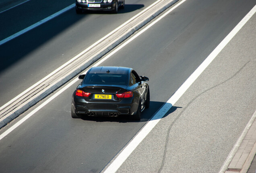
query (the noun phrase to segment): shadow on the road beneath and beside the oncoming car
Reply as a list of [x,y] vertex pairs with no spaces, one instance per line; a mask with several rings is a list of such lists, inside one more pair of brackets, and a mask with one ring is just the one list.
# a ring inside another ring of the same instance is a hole
[[[125,4],[125,8],[118,8],[118,14],[124,14],[128,12],[133,12],[135,10],[139,10],[143,8],[143,4]],[[82,14],[78,15],[83,15],[83,14],[114,14],[111,11],[84,11]]]

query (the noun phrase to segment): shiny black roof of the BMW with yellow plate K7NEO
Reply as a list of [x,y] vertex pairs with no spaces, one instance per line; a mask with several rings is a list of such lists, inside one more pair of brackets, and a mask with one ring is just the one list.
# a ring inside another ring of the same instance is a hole
[[117,66],[97,66],[92,67],[88,73],[109,73],[109,74],[128,74],[132,68]]

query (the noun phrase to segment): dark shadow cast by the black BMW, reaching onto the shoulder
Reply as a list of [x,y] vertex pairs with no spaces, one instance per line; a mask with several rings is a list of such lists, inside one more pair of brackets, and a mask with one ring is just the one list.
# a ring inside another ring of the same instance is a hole
[[167,117],[168,115],[170,115],[171,113],[176,111],[178,108],[182,108],[182,107],[172,106],[169,103],[151,101],[150,107],[148,109],[145,109],[144,111],[142,111],[140,121],[132,120],[126,116],[119,116],[119,117],[88,117],[88,116],[85,116],[81,119],[83,119],[84,121],[95,121],[95,122],[118,122],[118,123],[147,122],[152,119],[152,117],[161,109],[161,107],[164,104],[167,104],[165,106],[170,107],[170,109],[167,112],[165,112],[164,115],[159,115],[158,116],[159,118],[154,117],[154,119],[161,119],[161,118]]

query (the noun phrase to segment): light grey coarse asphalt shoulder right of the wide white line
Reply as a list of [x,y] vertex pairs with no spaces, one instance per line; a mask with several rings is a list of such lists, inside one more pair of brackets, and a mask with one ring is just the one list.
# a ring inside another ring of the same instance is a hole
[[138,145],[118,173],[219,171],[255,112],[255,27],[254,15]]

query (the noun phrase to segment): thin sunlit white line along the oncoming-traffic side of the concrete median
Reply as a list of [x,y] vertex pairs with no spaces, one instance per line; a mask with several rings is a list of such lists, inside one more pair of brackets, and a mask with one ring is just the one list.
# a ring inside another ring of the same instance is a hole
[[[28,89],[26,89],[25,91],[23,91],[21,94],[19,94],[18,96],[14,97],[12,100],[8,101],[8,103],[4,104],[2,107],[0,107],[0,111],[2,109],[4,109],[6,106],[10,105],[12,102],[16,101],[17,99],[19,99],[21,96],[25,95],[27,92],[29,92],[31,89],[35,88],[38,84],[40,84],[41,82],[43,82],[44,80],[46,80],[47,78],[50,78],[52,75],[56,74],[59,70],[61,70],[62,68],[64,68],[65,66],[67,66],[68,64],[70,64],[71,62],[73,62],[74,60],[76,60],[77,58],[79,58],[80,56],[82,56],[83,54],[85,54],[85,52],[87,52],[88,50],[90,50],[91,48],[93,48],[95,45],[99,44],[100,42],[102,42],[103,40],[105,40],[107,37],[111,36],[114,32],[116,32],[117,30],[119,30],[120,28],[124,27],[126,24],[128,24],[129,22],[131,22],[132,20],[134,20],[135,18],[137,18],[138,16],[140,16],[140,14],[142,14],[143,12],[147,11],[149,8],[151,8],[152,6],[154,6],[155,4],[159,3],[159,1],[161,0],[157,0],[156,2],[154,2],[153,4],[151,4],[150,6],[148,6],[147,8],[145,8],[145,10],[142,10],[141,12],[139,12],[138,14],[136,14],[135,16],[133,16],[132,18],[130,18],[129,20],[127,20],[126,22],[124,22],[122,25],[120,25],[118,28],[114,29],[113,31],[109,32],[109,34],[105,35],[103,38],[101,38],[100,40],[98,40],[97,42],[95,42],[94,44],[92,44],[91,46],[89,46],[88,48],[86,48],[85,50],[83,50],[81,53],[79,53],[78,55],[76,55],[75,57],[73,57],[72,59],[70,59],[68,62],[66,62],[65,64],[63,64],[62,66],[60,66],[59,68],[57,68],[56,70],[54,70],[53,72],[51,72],[50,74],[48,74],[47,76],[45,76],[43,79],[39,80],[37,83],[33,84],[31,87],[29,87]],[[64,9],[63,9],[64,10]]]

